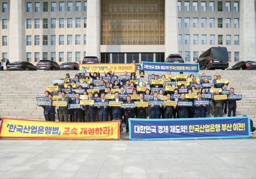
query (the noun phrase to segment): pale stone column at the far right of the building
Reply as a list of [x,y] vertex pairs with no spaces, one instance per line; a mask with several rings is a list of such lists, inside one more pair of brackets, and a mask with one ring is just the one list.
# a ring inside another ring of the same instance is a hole
[[240,0],[239,61],[256,60],[254,0]]

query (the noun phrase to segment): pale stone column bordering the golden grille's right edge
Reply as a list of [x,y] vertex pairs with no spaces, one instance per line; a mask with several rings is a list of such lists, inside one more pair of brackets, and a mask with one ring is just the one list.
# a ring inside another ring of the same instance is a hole
[[165,57],[178,54],[177,0],[165,0]]

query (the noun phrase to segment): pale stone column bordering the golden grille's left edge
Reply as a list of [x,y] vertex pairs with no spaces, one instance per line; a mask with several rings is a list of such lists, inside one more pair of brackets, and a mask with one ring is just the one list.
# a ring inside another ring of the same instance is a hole
[[100,58],[100,0],[87,0],[86,55]]

